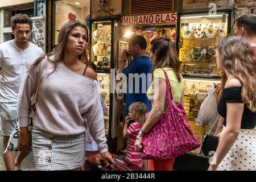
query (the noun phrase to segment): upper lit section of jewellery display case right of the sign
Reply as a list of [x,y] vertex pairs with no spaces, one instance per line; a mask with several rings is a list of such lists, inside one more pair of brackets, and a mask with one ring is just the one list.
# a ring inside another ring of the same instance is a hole
[[220,79],[216,47],[228,33],[230,18],[225,12],[180,15],[178,47],[183,77]]

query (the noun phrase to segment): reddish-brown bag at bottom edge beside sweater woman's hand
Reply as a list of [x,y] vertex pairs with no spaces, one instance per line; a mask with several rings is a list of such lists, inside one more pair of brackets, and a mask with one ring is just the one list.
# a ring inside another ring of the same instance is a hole
[[142,169],[128,162],[127,160],[112,154],[114,164],[109,163],[106,167],[105,160],[100,154],[93,155],[85,160],[85,170],[86,171],[142,171]]

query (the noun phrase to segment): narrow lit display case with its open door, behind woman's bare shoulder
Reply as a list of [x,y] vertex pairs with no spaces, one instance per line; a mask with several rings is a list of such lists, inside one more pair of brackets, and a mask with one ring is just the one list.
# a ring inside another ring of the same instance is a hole
[[96,65],[101,99],[105,101],[108,109],[108,114],[105,112],[104,115],[104,123],[109,151],[112,152],[117,151],[119,146],[122,147],[117,139],[122,136],[123,130],[119,127],[118,116],[124,110],[121,101],[115,97],[114,88],[114,68],[118,65],[118,53],[126,46],[125,43],[119,43],[120,21],[118,19],[118,17],[99,18],[91,20],[90,23],[91,61]]

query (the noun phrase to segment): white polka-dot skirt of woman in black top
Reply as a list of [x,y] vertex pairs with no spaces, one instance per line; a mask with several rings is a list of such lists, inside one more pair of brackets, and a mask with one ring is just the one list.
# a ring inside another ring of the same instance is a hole
[[218,171],[256,171],[255,138],[256,128],[241,129],[236,142],[218,165]]

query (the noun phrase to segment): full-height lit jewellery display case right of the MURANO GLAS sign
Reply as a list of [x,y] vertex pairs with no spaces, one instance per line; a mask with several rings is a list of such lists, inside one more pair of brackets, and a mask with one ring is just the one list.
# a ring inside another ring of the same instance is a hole
[[[200,106],[221,75],[216,63],[217,45],[231,30],[232,11],[178,13],[176,46],[184,78],[184,109],[189,125],[201,144],[208,126],[196,124]],[[201,147],[192,151],[201,155]]]

